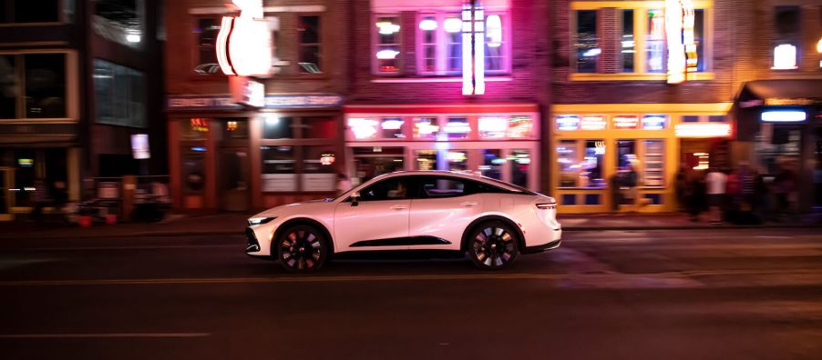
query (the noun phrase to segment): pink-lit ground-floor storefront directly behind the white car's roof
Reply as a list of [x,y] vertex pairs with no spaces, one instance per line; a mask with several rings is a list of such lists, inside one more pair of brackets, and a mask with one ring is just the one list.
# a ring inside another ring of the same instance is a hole
[[449,170],[539,190],[536,104],[345,105],[354,185],[399,170]]

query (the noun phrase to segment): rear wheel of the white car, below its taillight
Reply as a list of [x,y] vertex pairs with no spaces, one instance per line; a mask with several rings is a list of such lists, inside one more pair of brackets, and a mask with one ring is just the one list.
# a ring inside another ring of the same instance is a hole
[[500,221],[478,224],[468,232],[466,253],[482,270],[504,269],[519,255],[519,235]]

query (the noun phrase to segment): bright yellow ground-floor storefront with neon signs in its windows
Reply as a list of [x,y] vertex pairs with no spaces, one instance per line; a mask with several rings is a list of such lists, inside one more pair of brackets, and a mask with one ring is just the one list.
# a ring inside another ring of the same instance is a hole
[[676,174],[731,162],[730,104],[553,105],[551,195],[564,213],[633,211],[618,179],[633,167],[639,211],[677,209]]

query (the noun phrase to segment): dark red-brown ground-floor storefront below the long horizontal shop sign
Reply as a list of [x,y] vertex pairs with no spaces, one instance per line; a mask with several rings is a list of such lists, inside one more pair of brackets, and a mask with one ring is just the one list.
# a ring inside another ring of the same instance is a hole
[[343,154],[339,95],[171,96],[171,194],[187,211],[250,211],[335,195]]

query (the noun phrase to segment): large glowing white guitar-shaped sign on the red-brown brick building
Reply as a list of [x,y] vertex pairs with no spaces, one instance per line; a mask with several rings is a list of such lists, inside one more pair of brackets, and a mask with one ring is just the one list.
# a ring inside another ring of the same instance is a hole
[[225,75],[268,76],[272,72],[272,32],[262,0],[233,0],[240,16],[223,16],[217,35],[217,62]]

